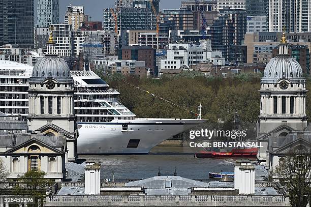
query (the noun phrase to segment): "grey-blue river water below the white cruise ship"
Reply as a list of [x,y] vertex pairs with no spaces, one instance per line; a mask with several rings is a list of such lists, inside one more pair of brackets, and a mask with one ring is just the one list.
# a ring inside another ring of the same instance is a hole
[[208,172],[234,171],[234,159],[196,159],[183,147],[157,147],[148,155],[79,155],[79,159],[101,161],[101,179],[146,179],[158,175],[177,175],[188,179],[209,179]]

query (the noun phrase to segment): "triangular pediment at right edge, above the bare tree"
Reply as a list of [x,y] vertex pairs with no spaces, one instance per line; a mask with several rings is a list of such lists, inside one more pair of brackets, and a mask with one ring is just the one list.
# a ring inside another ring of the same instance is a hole
[[308,152],[311,150],[311,143],[304,139],[296,139],[272,152],[272,154],[289,154],[293,152]]

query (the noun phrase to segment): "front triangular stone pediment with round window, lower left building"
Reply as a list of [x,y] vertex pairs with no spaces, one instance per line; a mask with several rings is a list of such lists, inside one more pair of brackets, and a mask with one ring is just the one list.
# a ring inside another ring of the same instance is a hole
[[33,138],[20,145],[13,147],[5,152],[5,154],[63,154],[63,152],[55,149],[48,144]]

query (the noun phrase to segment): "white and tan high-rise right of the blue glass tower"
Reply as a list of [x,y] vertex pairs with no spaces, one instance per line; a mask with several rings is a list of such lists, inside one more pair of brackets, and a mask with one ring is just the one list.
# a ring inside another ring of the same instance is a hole
[[67,7],[65,24],[71,24],[73,30],[78,30],[84,21],[88,21],[88,16],[84,14],[84,7],[72,5]]

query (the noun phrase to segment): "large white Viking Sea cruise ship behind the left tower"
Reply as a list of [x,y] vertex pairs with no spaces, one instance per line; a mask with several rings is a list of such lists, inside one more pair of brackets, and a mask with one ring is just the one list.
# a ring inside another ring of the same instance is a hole
[[[0,111],[28,113],[32,66],[0,61]],[[71,71],[75,84],[78,154],[147,154],[164,140],[204,120],[138,119],[119,102],[119,92],[92,71]]]

